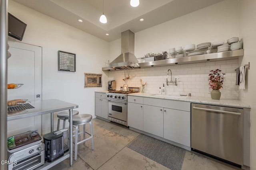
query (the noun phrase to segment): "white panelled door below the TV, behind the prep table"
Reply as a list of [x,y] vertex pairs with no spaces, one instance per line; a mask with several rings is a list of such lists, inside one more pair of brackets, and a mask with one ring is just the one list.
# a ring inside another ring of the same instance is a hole
[[[42,98],[42,47],[16,41],[8,41],[11,57],[8,59],[8,84],[24,84],[20,88],[8,89],[8,100]],[[30,130],[41,133],[41,116],[8,121],[8,136]]]

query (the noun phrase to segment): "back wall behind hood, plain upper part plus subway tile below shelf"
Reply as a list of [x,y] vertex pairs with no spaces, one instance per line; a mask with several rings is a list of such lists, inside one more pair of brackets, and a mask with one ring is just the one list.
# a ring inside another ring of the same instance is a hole
[[[162,53],[173,47],[188,44],[226,41],[239,37],[239,1],[225,0],[174,20],[150,27],[135,33],[135,56],[144,57],[146,53]],[[110,43],[110,59],[120,54],[120,39]],[[116,47],[116,48],[115,48]],[[114,50],[114,51],[113,51]],[[119,53],[118,53],[119,52]],[[112,54],[118,54],[112,56]],[[111,61],[112,61],[111,60]],[[117,81],[117,89],[123,84],[140,86],[140,79],[147,82],[146,92],[156,93],[159,86],[166,84],[167,70],[172,77],[179,78],[178,86],[167,86],[168,94],[188,94],[210,97],[208,92],[208,74],[210,70],[220,68],[226,73],[221,98],[238,99],[238,86],[235,86],[235,68],[238,60],[183,64],[156,68],[132,70],[132,78],[123,81],[124,71],[109,73],[110,80]]]

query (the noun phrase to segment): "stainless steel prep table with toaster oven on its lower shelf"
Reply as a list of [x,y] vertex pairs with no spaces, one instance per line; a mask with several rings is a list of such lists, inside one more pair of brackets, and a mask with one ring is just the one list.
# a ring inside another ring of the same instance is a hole
[[[32,109],[26,109],[26,111],[16,111],[12,114],[7,114],[7,121],[22,119],[26,117],[32,117],[32,116],[38,116],[38,115],[44,115],[51,113],[51,131],[53,131],[53,113],[56,111],[64,111],[69,110],[69,117],[70,117],[70,124],[69,128],[72,129],[73,123],[72,123],[72,112],[73,109],[78,108],[78,105],[64,102],[57,99],[51,99],[51,100],[41,100],[41,101],[34,101],[34,102],[28,102],[35,108]],[[73,146],[73,137],[72,133],[70,133],[70,146]],[[67,152],[68,153],[68,152]],[[69,157],[70,159],[70,166],[73,164],[73,147],[70,147],[69,154],[64,154],[61,158],[58,160],[55,160],[51,163],[45,163],[43,166],[40,166],[39,169],[49,169],[50,167],[58,164],[62,160]]]

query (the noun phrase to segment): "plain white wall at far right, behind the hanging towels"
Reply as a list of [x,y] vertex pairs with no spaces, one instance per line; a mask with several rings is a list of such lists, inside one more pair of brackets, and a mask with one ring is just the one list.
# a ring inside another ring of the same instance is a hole
[[256,39],[256,1],[240,0],[240,37],[244,41],[244,57],[241,65],[250,62],[250,70],[246,69],[246,86],[241,90],[241,100],[251,106],[251,128],[250,128],[250,167],[256,170],[256,106],[255,106],[255,39]]

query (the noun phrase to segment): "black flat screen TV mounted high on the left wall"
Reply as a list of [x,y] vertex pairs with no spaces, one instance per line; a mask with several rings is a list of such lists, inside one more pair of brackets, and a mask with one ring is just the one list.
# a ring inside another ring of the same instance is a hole
[[22,41],[27,24],[8,13],[8,35]]

